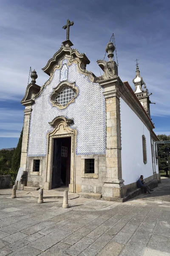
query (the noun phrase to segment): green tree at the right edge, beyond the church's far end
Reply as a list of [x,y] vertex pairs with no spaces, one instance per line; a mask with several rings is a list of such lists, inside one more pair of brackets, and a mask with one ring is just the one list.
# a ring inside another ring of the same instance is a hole
[[[159,140],[161,141],[170,141],[170,135],[159,134]],[[158,144],[158,154],[159,154],[159,170],[166,172],[168,176],[168,163],[170,163],[170,143],[168,144]]]

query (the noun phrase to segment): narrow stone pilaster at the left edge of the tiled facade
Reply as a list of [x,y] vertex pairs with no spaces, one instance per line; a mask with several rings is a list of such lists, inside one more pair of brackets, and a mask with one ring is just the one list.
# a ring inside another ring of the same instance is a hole
[[24,126],[23,126],[23,142],[21,149],[21,161],[20,167],[23,168],[23,171],[26,171],[26,162],[27,162],[27,150],[28,150],[28,137],[29,137],[29,124],[31,117],[31,105],[26,106],[24,110]]

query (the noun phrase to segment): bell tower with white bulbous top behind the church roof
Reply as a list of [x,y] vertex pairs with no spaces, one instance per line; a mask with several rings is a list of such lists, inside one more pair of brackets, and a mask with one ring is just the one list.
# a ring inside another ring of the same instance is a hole
[[[133,84],[135,85],[134,93],[136,94],[136,97],[139,99],[144,110],[150,117],[150,104],[152,102],[150,102],[149,96],[152,95],[152,93],[149,94],[146,84],[144,83],[143,78],[140,76],[139,64],[137,61],[138,59],[136,59],[136,77],[132,80]],[[142,88],[143,85],[144,87]]]

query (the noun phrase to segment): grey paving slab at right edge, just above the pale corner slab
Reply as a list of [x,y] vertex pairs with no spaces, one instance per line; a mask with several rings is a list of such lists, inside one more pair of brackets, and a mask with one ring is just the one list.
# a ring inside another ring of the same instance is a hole
[[150,238],[147,247],[153,250],[170,253],[170,238],[166,236],[153,235]]

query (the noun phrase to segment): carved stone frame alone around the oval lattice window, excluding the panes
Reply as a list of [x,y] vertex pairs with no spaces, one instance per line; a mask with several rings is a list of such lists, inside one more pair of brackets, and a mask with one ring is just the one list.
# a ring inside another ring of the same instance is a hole
[[[57,104],[55,102],[55,98],[59,95],[59,93],[65,87],[71,88],[76,93],[76,95],[74,96],[73,99],[71,99],[70,102],[68,102],[65,106],[63,106],[61,104]],[[53,107],[57,107],[59,109],[65,109],[65,108],[68,107],[69,104],[74,102],[74,99],[77,98],[78,94],[79,94],[79,89],[75,86],[75,82],[74,83],[69,83],[68,81],[62,81],[59,85],[57,85],[57,87],[55,87],[53,89],[53,92],[51,93],[51,96],[50,96],[50,101],[51,101],[51,104],[52,104]]]

